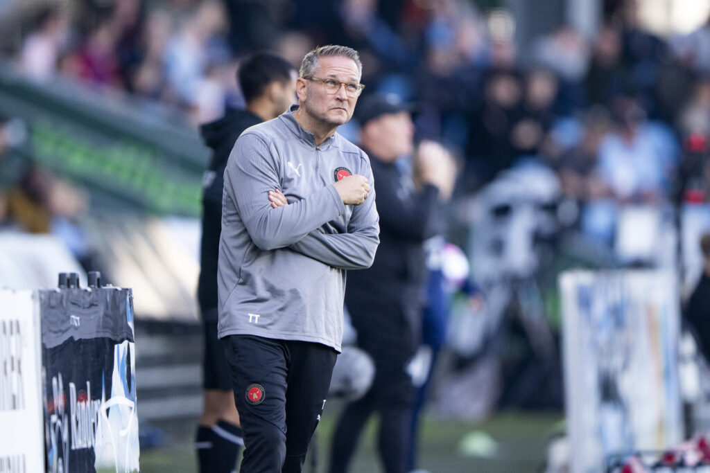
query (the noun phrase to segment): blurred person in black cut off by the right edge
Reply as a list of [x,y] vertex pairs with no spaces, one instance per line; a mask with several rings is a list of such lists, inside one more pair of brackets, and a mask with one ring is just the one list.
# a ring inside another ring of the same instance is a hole
[[705,265],[685,309],[685,318],[706,360],[710,360],[710,232],[700,238]]

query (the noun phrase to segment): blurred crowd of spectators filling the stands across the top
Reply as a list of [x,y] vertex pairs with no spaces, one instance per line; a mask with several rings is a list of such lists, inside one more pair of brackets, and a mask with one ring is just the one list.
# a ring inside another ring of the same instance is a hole
[[664,40],[640,28],[633,0],[603,1],[594,37],[559,26],[526,45],[508,11],[470,1],[9,5],[21,40],[3,46],[28,77],[122,89],[195,124],[243,104],[234,71],[247,53],[276,50],[297,65],[313,45],[350,45],[368,91],[415,103],[420,138],[460,150],[462,191],[533,157],[565,195],[594,204],[583,224],[599,238],[611,235],[609,201],[671,199],[682,146],[703,147],[710,131],[710,24]]

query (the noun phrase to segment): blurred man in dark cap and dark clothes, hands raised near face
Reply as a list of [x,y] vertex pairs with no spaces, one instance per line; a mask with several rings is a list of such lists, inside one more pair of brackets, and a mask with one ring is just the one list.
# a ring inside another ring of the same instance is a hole
[[[348,274],[345,304],[357,344],[373,357],[376,372],[371,389],[342,412],[329,472],[346,472],[362,428],[377,412],[385,471],[405,473],[415,394],[408,365],[419,345],[427,275],[423,243],[437,233],[439,204],[451,195],[453,161],[432,141],[415,151],[410,109],[396,96],[364,96],[355,117],[377,182],[380,246],[369,269]],[[419,189],[400,162],[413,153]]]

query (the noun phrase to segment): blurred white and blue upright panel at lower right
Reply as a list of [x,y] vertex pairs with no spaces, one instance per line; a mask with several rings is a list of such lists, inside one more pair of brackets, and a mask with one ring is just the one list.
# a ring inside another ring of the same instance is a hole
[[682,440],[680,307],[671,272],[575,271],[559,278],[572,473]]

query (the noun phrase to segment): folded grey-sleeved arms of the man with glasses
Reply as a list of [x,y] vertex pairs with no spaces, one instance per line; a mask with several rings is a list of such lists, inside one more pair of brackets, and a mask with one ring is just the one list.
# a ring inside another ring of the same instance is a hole
[[[236,153],[236,155],[234,155]],[[366,176],[346,177],[315,189],[305,199],[288,204],[283,196],[274,205],[269,191],[279,186],[274,152],[258,135],[237,140],[224,174],[224,198],[233,199],[253,243],[261,250],[288,247],[339,269],[369,267],[379,243],[379,218],[374,190]],[[353,205],[347,228],[340,233],[329,224]]]

